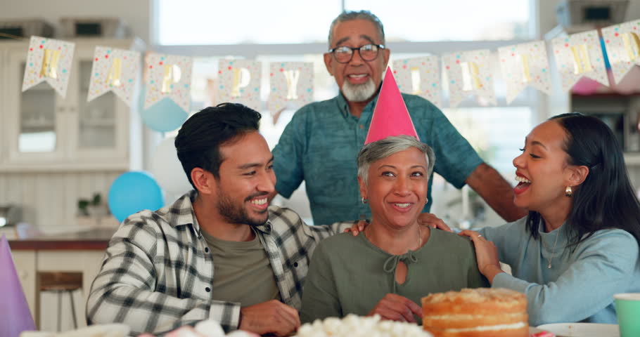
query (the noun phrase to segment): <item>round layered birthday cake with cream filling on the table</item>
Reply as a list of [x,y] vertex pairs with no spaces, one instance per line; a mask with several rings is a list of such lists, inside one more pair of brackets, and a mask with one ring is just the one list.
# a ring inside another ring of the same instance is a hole
[[435,337],[527,337],[527,298],[509,289],[462,289],[422,298],[423,328]]

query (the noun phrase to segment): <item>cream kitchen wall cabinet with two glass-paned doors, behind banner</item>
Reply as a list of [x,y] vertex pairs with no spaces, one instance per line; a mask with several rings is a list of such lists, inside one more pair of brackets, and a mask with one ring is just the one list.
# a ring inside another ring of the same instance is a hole
[[[132,114],[108,92],[87,102],[96,46],[140,51],[139,39],[69,39],[75,53],[65,98],[46,81],[22,92],[28,41],[0,43],[0,92],[4,93],[0,171],[127,171]],[[139,94],[134,95],[135,98]]]

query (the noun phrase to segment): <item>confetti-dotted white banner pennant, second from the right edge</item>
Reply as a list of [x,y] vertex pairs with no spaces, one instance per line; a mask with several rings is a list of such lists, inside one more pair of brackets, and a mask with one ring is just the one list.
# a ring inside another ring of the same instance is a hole
[[583,76],[609,86],[597,30],[558,37],[551,44],[563,91],[569,91]]

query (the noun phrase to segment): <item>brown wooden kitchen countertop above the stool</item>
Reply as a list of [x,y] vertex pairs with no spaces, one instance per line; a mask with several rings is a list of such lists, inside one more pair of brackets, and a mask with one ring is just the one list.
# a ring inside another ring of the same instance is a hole
[[11,250],[105,250],[115,228],[94,228],[81,232],[69,232],[30,237],[27,239],[11,239]]

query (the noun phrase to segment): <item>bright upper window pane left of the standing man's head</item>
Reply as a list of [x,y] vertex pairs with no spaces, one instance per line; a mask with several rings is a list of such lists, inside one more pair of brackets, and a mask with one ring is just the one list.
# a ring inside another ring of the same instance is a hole
[[297,44],[323,42],[339,0],[158,0],[158,43]]

